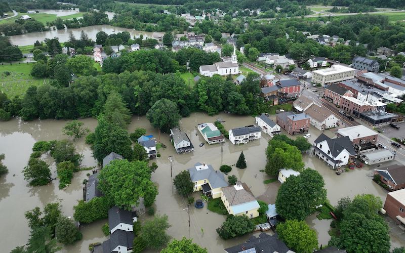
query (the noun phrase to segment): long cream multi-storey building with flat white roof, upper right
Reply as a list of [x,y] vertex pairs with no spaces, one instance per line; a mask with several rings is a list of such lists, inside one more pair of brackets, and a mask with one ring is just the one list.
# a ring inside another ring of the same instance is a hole
[[342,65],[333,65],[330,68],[319,69],[312,71],[313,83],[326,85],[343,80],[354,78],[354,69]]

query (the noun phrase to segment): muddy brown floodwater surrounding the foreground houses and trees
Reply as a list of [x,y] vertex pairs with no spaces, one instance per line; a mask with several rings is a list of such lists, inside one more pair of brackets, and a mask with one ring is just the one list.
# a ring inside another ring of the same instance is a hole
[[[261,173],[265,166],[265,148],[269,137],[262,135],[260,140],[242,145],[233,146],[227,141],[221,152],[221,145],[204,145],[199,147],[198,144],[203,142],[203,138],[197,134],[196,125],[203,122],[214,122],[217,118],[225,120],[226,129],[236,128],[254,123],[251,116],[234,116],[229,114],[220,114],[208,116],[204,113],[193,113],[190,117],[183,118],[180,127],[187,133],[195,150],[193,153],[178,155],[175,149],[170,145],[167,134],[158,135],[157,131],[152,129],[145,117],[133,117],[129,126],[132,132],[135,128],[141,127],[147,129],[147,134],[154,135],[157,140],[167,145],[167,148],[159,149],[161,157],[154,161],[158,164],[155,173],[152,174],[152,180],[159,189],[154,204],[157,214],[167,214],[172,227],[168,233],[174,238],[183,236],[193,238],[194,242],[201,246],[207,247],[209,252],[222,252],[223,248],[242,243],[250,235],[224,241],[220,239],[215,231],[225,220],[225,216],[211,213],[205,206],[202,209],[190,208],[190,224],[188,227],[188,216],[185,199],[182,199],[175,191],[172,184],[170,173],[170,162],[168,156],[173,155],[173,177],[179,172],[193,166],[196,162],[206,162],[218,169],[221,164],[233,165],[241,151],[244,151],[248,167],[245,170],[239,170],[232,166],[230,175],[236,175],[239,180],[251,187],[253,194],[263,201],[274,203],[278,182],[263,184],[268,177]],[[83,119],[85,125],[94,130],[97,121],[95,119]],[[30,187],[24,180],[21,171],[27,164],[31,153],[32,145],[39,140],[65,139],[61,129],[66,121],[64,120],[35,120],[31,122],[22,122],[13,119],[8,122],[0,123],[0,153],[6,154],[5,164],[9,168],[9,173],[0,179],[0,224],[11,228],[0,231],[0,238],[8,243],[4,245],[5,252],[18,245],[23,245],[29,237],[28,226],[24,218],[24,212],[35,206],[43,207],[48,202],[60,201],[62,203],[63,213],[67,216],[73,214],[72,207],[77,200],[82,198],[82,182],[87,178],[87,172],[80,172],[74,175],[72,184],[64,190],[58,189],[58,182],[55,180],[49,186]],[[311,128],[310,133],[313,141],[319,132]],[[332,131],[325,132],[328,136],[334,136]],[[91,156],[91,150],[84,140],[76,141],[78,152],[84,155],[83,166],[96,165],[96,161]],[[44,157],[48,162],[53,162],[52,158]],[[371,178],[367,176],[369,169],[363,168],[353,172],[343,173],[337,176],[325,164],[310,155],[304,155],[304,161],[308,167],[315,168],[323,176],[328,190],[328,197],[332,204],[336,204],[338,199],[344,196],[353,197],[356,194],[372,193],[385,199],[386,192],[373,184]],[[55,164],[52,165],[53,171]],[[198,198],[199,194],[194,193]],[[139,206],[139,220],[149,218],[145,214],[143,206]],[[103,236],[101,227],[106,221],[95,222],[83,226],[83,240],[70,245],[63,249],[63,252],[88,252],[88,245],[92,242],[102,242],[106,238]],[[307,218],[308,224],[316,229],[319,238],[319,244],[326,245],[329,240],[327,231],[329,230],[330,221],[319,221],[314,215]],[[398,246],[403,244],[395,236],[391,236],[392,244]],[[152,252],[152,251],[150,251]]]

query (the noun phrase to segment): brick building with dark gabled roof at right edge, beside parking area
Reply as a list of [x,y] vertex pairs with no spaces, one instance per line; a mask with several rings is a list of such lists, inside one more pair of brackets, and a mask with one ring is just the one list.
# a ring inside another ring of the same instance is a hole
[[[391,153],[392,157],[394,156]],[[386,184],[390,190],[400,190],[405,188],[405,166],[394,164],[385,168],[374,170],[374,175],[380,175],[381,183]]]

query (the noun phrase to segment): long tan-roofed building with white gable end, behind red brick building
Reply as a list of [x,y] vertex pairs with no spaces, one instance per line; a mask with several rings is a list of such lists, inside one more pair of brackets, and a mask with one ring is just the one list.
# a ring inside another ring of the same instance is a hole
[[312,104],[304,112],[311,117],[311,125],[319,130],[335,128],[338,125],[339,119],[324,107]]

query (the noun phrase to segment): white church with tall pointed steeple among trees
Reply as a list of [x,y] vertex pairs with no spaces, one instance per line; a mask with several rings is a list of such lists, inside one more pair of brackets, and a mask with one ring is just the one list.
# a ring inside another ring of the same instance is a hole
[[213,65],[199,66],[199,73],[205,76],[219,75],[235,75],[239,73],[239,65],[236,59],[236,49],[233,47],[233,54],[231,57],[222,57],[223,62],[217,62]]

